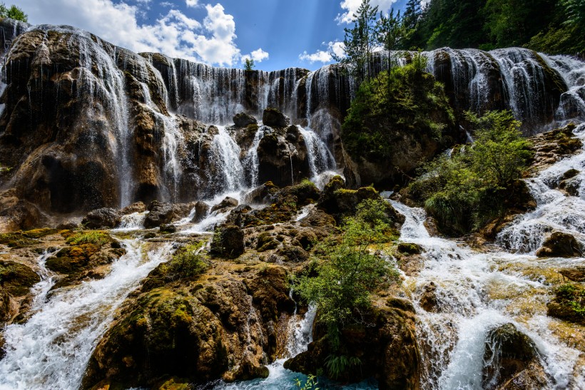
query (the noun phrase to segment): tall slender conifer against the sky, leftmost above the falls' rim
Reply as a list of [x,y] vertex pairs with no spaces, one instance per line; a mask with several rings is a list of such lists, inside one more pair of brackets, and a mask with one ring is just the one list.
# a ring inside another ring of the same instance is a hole
[[336,61],[347,65],[357,85],[372,76],[372,52],[376,43],[375,21],[378,7],[372,7],[370,0],[362,0],[360,8],[353,15],[352,29],[345,28],[345,57],[333,56]]

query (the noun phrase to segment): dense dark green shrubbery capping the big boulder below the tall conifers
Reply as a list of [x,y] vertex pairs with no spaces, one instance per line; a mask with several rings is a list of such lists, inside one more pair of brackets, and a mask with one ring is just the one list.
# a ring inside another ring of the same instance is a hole
[[388,159],[405,134],[441,140],[454,123],[444,88],[425,72],[426,58],[382,71],[362,83],[342,125],[342,139],[353,157]]

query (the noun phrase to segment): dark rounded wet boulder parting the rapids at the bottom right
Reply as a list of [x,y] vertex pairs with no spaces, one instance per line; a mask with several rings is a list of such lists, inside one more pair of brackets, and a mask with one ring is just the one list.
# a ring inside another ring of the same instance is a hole
[[484,389],[516,389],[509,385],[529,381],[520,389],[542,389],[546,375],[534,342],[514,324],[504,324],[487,333],[482,386]]

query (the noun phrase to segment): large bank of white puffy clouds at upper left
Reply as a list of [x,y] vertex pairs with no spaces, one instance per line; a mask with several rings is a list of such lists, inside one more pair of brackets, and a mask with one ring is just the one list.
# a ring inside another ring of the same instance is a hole
[[[194,0],[191,0],[196,2]],[[203,23],[171,9],[152,24],[138,23],[138,5],[112,0],[19,0],[34,24],[71,24],[132,51],[156,51],[218,66],[240,58],[235,21],[221,4],[205,6]]]

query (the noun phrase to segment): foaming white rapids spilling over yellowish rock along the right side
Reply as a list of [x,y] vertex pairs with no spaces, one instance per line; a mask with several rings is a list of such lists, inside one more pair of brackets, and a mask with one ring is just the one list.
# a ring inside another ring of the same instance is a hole
[[[585,125],[576,133],[585,138]],[[540,183],[530,185],[538,202],[536,210],[519,216],[502,232],[499,242],[513,250],[534,252],[546,232],[555,229],[570,232],[584,244],[584,200],[544,184],[557,180],[567,169],[582,169],[584,158],[581,153],[561,160],[532,179]],[[424,210],[399,202],[392,205],[406,217],[400,240],[417,243],[425,251],[423,269],[405,281],[419,318],[423,389],[482,389],[487,333],[506,323],[514,324],[536,344],[549,387],[585,386],[580,352],[562,339],[567,325],[546,316],[554,280],[551,273],[559,267],[585,265],[584,258],[539,260],[532,253],[476,252],[452,240],[430,237],[423,225]],[[539,227],[544,223],[548,228]],[[437,307],[427,312],[420,300],[431,283]]]

